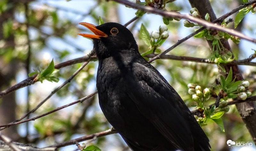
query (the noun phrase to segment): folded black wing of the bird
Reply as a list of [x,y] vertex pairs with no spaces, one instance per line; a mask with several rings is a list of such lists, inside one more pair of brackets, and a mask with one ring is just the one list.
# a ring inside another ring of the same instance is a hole
[[133,79],[129,81],[133,90],[127,93],[140,112],[174,146],[193,150],[188,121],[193,116],[179,94],[151,64],[133,63],[132,72]]

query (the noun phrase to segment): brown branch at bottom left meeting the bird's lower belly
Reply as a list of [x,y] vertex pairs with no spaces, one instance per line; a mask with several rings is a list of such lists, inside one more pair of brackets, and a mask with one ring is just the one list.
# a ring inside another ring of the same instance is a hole
[[116,131],[116,129],[114,129],[112,127],[111,129],[109,129],[107,131],[104,131],[104,132],[98,132],[98,133],[95,133],[95,134],[92,134],[92,135],[87,135],[87,136],[84,136],[84,137],[80,137],[80,138],[77,138],[77,139],[74,139],[74,140],[68,140],[68,141],[62,142],[60,144],[55,144],[55,145],[52,145],[52,146],[49,146],[49,147],[57,147],[57,148],[65,147],[65,146],[68,146],[68,145],[76,144],[77,142],[81,142],[81,141],[85,141],[85,140],[91,140],[95,136],[96,137],[102,137],[102,136],[115,134],[115,133],[117,133],[117,131]]

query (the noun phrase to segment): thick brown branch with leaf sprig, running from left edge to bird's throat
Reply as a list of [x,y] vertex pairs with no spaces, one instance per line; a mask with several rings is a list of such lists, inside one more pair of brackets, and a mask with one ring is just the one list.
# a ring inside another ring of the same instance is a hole
[[[70,65],[73,65],[73,64],[89,62],[89,61],[93,61],[93,60],[96,60],[96,59],[97,59],[97,57],[94,55],[94,53],[92,51],[90,54],[88,54],[84,57],[80,57],[80,58],[68,60],[68,61],[60,63],[60,64],[56,64],[54,66],[54,68],[55,69],[60,69],[60,68],[70,66]],[[29,86],[29,85],[32,85],[32,84],[36,83],[37,82],[36,76],[37,76],[37,74],[29,77],[28,79],[25,79],[25,80],[21,81],[20,83],[15,84],[14,86],[12,86],[10,88],[7,88],[6,90],[4,90],[2,92],[0,92],[0,98],[3,97],[4,95],[7,95],[7,94],[11,93],[12,91],[15,91],[15,90],[18,90],[22,87],[26,87],[26,86]]]

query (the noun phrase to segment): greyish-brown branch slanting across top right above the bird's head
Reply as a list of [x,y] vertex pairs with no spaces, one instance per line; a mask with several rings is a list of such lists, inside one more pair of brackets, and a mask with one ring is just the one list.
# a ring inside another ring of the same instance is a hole
[[[135,8],[135,9],[143,10],[143,11],[154,13],[154,14],[159,14],[159,15],[164,16],[164,17],[188,19],[190,21],[196,22],[199,25],[204,26],[208,30],[212,30],[212,29],[219,30],[219,31],[228,33],[230,35],[237,36],[237,37],[239,37],[241,39],[245,39],[247,41],[256,43],[256,39],[248,37],[248,36],[242,34],[241,32],[238,32],[238,31],[235,31],[235,30],[231,30],[231,29],[228,29],[228,28],[223,28],[220,25],[213,24],[213,23],[205,21],[203,19],[195,18],[195,17],[193,17],[191,15],[182,15],[182,14],[177,13],[175,11],[163,11],[163,10],[155,9],[155,8],[152,8],[152,7],[149,7],[149,6],[143,6],[143,5],[135,4],[135,3],[132,3],[132,2],[127,1],[127,0],[112,0],[112,1],[115,1],[117,3],[121,3],[121,4],[124,4],[124,5],[130,6],[130,7]],[[248,4],[249,3],[253,4],[255,2],[256,2],[256,0],[248,2]]]

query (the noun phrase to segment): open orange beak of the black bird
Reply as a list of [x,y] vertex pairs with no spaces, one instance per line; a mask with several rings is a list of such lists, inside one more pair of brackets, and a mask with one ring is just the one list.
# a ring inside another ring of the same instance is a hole
[[87,27],[88,29],[90,29],[94,33],[94,34],[79,34],[81,36],[91,38],[91,39],[92,38],[100,39],[100,37],[108,37],[107,34],[100,31],[99,29],[97,29],[95,25],[92,25],[92,24],[86,23],[86,22],[80,22],[79,24]]

